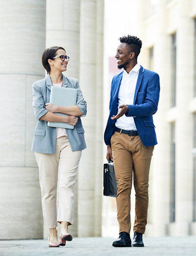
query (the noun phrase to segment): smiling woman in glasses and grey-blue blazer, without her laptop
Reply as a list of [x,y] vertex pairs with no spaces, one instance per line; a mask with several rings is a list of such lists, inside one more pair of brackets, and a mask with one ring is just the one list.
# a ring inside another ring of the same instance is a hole
[[[33,84],[33,107],[38,123],[35,128],[32,150],[35,151],[39,167],[43,216],[49,228],[49,247],[59,247],[59,245],[65,245],[66,240],[72,240],[68,226],[73,222],[75,175],[81,151],[86,148],[80,118],[86,115],[86,101],[78,81],[62,74],[67,70],[68,61],[69,56],[66,55],[63,47],[46,49],[42,54],[42,64],[48,75]],[[49,103],[52,86],[76,88],[76,105],[60,107]],[[54,114],[55,112],[68,116],[59,116]],[[47,126],[47,122],[67,122],[75,127],[74,129],[54,128]],[[60,244],[56,230],[58,222],[61,223]]]

